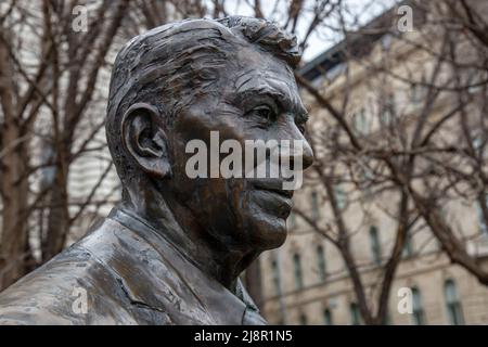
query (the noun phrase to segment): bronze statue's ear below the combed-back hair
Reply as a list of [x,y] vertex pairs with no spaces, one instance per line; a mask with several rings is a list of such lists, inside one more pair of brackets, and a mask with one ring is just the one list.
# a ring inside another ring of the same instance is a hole
[[136,103],[124,114],[121,142],[139,165],[159,179],[171,177],[166,133],[159,112],[146,103]]

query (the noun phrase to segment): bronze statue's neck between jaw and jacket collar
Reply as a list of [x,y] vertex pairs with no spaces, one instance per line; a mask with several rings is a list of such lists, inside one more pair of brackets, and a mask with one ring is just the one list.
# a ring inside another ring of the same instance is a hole
[[237,277],[258,255],[219,244],[170,192],[146,181],[126,187],[121,207],[160,232],[189,261],[232,293]]

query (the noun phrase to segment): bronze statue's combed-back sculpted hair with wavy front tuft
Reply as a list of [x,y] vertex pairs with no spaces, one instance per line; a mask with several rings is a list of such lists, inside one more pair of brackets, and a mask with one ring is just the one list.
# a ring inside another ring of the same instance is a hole
[[211,91],[236,43],[256,44],[292,68],[300,60],[295,36],[275,23],[244,16],[159,26],[134,37],[120,50],[112,70],[105,131],[123,182],[133,169],[120,143],[125,112],[137,102],[146,102],[170,125],[179,110],[201,91]]

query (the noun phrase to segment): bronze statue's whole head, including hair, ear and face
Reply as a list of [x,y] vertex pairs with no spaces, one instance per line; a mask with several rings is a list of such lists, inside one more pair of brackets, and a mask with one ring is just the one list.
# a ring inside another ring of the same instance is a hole
[[211,152],[210,132],[219,144],[233,140],[243,149],[246,140],[296,140],[308,167],[307,112],[293,74],[299,57],[295,37],[241,16],[187,20],[129,41],[115,61],[106,120],[123,200],[131,187],[140,201],[156,191],[180,218],[193,219],[203,237],[229,252],[281,245],[293,194],[282,179],[215,176],[211,163],[203,168],[207,177],[191,177],[188,163],[195,153],[188,144],[206,144],[205,158],[217,155],[220,163],[227,154]]

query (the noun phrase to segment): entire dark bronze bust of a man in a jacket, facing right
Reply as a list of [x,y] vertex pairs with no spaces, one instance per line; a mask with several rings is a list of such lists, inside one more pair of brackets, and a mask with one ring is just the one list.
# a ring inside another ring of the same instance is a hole
[[252,17],[187,20],[130,40],[106,116],[121,202],[0,293],[0,323],[265,324],[239,275],[284,242],[293,191],[281,178],[189,177],[187,144],[211,147],[211,131],[242,145],[301,141],[286,159],[310,166],[298,60],[293,36]]

